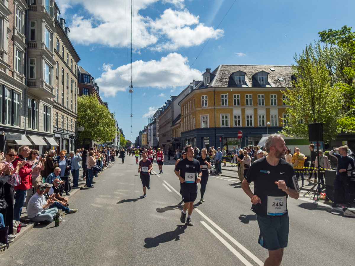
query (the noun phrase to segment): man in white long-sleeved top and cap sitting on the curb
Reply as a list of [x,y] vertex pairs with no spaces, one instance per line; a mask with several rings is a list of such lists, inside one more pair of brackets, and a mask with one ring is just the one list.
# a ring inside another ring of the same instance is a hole
[[58,212],[57,208],[50,208],[49,206],[54,203],[54,195],[49,196],[45,200],[44,191],[45,184],[37,186],[37,193],[35,193],[28,202],[27,215],[32,222],[51,223],[53,217]]

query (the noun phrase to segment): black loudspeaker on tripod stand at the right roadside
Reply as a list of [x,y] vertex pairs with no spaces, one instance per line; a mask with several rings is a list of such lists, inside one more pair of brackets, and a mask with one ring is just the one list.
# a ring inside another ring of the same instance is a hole
[[[311,123],[308,124],[308,140],[310,142],[317,142],[317,172],[318,179],[317,183],[313,185],[313,187],[308,190],[303,196],[309,195],[313,192],[313,199],[318,201],[318,196],[321,194],[321,182],[320,182],[320,164],[319,164],[319,142],[323,141],[323,124],[322,123]],[[313,190],[317,186],[316,190]]]

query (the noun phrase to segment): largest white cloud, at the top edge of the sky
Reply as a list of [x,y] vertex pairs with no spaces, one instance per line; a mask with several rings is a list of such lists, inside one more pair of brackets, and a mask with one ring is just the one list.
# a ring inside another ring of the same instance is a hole
[[[101,44],[109,47],[130,46],[130,5],[125,0],[105,0],[100,5],[97,0],[59,0],[61,12],[75,5],[82,5],[87,17],[75,14],[67,18],[71,40],[82,45]],[[139,52],[142,48],[152,50],[172,50],[180,47],[200,45],[205,40],[223,36],[224,31],[206,27],[199,17],[189,10],[166,9],[155,19],[140,15],[139,11],[159,0],[134,1],[133,47]],[[162,0],[163,3],[184,7],[184,0]]]

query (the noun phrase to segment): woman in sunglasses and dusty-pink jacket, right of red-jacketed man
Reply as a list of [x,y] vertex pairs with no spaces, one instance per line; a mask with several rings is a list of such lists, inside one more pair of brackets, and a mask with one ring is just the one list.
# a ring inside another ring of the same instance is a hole
[[42,176],[41,176],[41,171],[44,170],[44,162],[45,159],[42,157],[39,157],[39,151],[38,150],[31,150],[31,153],[28,155],[26,162],[29,164],[29,166],[33,168],[32,171],[32,188],[27,190],[27,196],[26,196],[26,208],[29,199],[31,198],[32,194],[36,193],[33,188],[37,189],[37,186],[39,184],[42,184]]

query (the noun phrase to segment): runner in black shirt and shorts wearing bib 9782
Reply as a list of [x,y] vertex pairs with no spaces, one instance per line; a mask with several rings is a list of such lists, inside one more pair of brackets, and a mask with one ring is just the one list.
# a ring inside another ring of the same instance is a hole
[[[184,209],[181,212],[180,221],[185,223],[186,211],[189,210],[186,223],[193,226],[191,214],[193,210],[193,202],[197,198],[197,183],[201,182],[201,166],[200,162],[193,159],[194,151],[192,145],[185,147],[186,159],[182,159],[175,166],[175,174],[180,179],[180,188],[182,200],[184,200]],[[180,171],[180,174],[179,174]],[[198,176],[197,174],[198,173]]]

